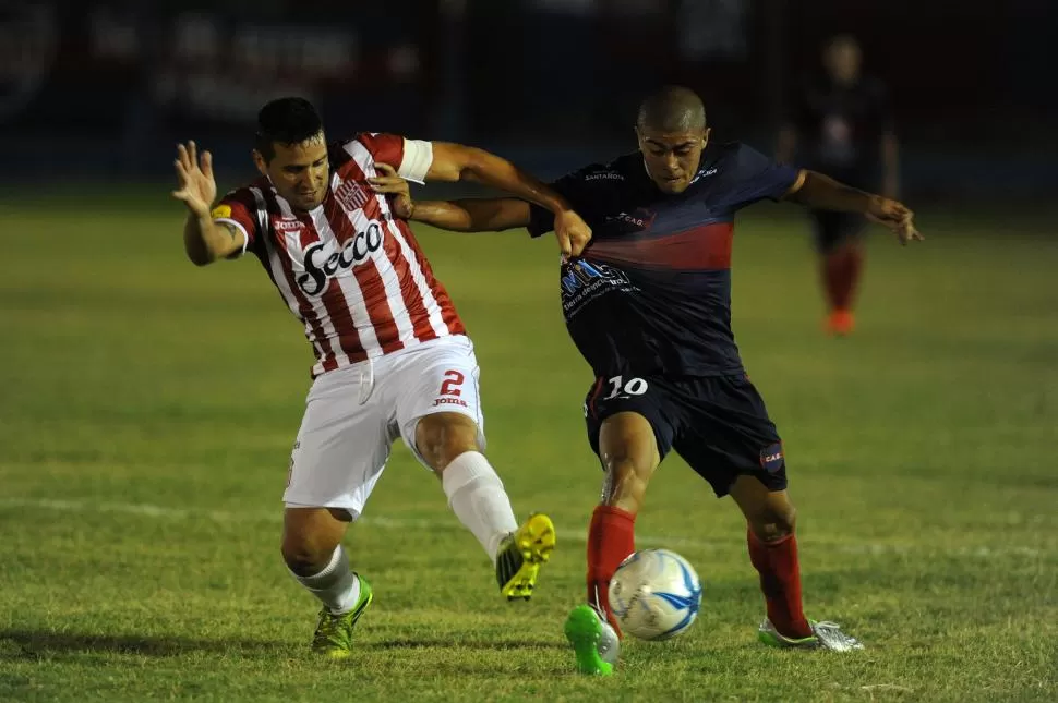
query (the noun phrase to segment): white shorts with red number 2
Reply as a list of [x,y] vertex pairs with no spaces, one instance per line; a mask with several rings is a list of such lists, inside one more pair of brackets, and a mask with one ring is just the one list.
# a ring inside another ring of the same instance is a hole
[[473,344],[456,335],[317,376],[290,454],[284,502],[341,508],[356,520],[397,437],[426,465],[416,450],[416,427],[432,413],[473,420],[483,449],[479,375]]

